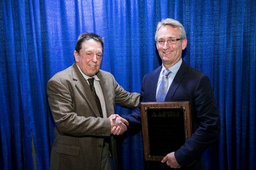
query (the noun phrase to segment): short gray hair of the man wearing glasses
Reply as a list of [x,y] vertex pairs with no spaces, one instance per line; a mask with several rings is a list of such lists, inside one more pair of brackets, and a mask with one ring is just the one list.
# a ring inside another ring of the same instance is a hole
[[157,36],[156,34],[158,33],[158,30],[165,25],[170,25],[171,27],[177,28],[180,31],[180,36],[182,39],[187,38],[186,36],[186,31],[183,27],[183,25],[181,24],[181,22],[178,22],[177,20],[174,20],[172,18],[166,18],[166,19],[162,19],[162,21],[158,22],[158,25],[156,26],[156,31],[155,31],[155,40],[157,40]]

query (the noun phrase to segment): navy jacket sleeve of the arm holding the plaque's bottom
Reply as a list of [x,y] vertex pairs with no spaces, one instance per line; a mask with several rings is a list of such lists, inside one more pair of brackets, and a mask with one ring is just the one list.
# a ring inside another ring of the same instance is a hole
[[[194,114],[198,128],[174,155],[181,166],[191,166],[203,154],[208,146],[217,140],[220,132],[220,120],[217,103],[209,78],[199,78],[193,95]],[[193,123],[193,122],[192,122]]]

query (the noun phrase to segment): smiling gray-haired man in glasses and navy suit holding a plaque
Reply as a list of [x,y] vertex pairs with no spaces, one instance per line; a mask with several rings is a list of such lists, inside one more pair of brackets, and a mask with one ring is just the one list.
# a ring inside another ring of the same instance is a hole
[[[155,44],[162,65],[144,76],[140,101],[190,101],[192,136],[180,149],[167,154],[162,163],[150,162],[148,169],[204,169],[201,156],[220,132],[219,111],[210,80],[182,60],[187,39],[183,25],[177,20],[167,18],[158,23]],[[122,117],[130,126],[141,123],[139,108]]]

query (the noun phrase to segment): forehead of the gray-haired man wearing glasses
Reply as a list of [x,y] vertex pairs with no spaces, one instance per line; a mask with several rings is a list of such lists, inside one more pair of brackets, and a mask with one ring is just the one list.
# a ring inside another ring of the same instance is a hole
[[157,38],[178,38],[180,31],[178,27],[171,27],[170,25],[162,26],[157,32]]

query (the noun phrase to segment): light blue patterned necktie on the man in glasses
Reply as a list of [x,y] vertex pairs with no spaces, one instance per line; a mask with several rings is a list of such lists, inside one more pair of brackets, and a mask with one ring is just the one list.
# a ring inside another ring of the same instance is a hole
[[169,69],[163,71],[162,81],[160,83],[158,93],[156,95],[156,101],[165,101],[165,96],[168,89],[168,75],[171,73]]

